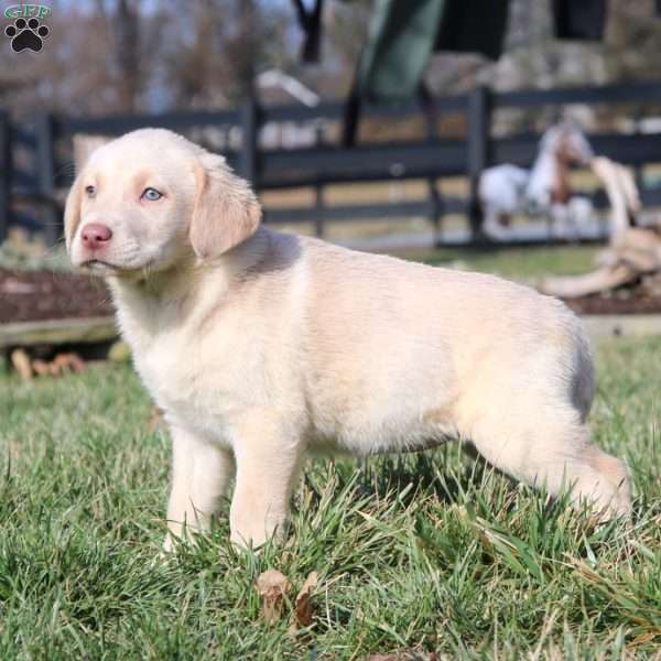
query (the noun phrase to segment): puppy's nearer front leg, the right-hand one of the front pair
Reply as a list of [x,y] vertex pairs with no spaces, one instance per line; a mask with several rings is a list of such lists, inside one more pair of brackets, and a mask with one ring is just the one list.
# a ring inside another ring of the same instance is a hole
[[261,412],[241,420],[234,445],[237,481],[229,513],[231,541],[256,548],[273,534],[284,534],[303,446],[284,421]]

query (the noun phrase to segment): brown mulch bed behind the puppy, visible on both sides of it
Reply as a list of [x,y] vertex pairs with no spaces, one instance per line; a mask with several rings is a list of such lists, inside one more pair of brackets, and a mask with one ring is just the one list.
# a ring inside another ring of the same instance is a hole
[[[566,301],[581,314],[661,314],[661,296],[593,295]],[[93,275],[0,269],[0,324],[112,315],[104,281]]]

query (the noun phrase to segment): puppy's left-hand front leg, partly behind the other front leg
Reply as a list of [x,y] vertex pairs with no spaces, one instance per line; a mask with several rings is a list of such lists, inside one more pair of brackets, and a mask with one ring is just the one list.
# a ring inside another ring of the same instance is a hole
[[234,475],[229,451],[177,426],[171,429],[171,434],[172,490],[167,503],[166,551],[172,549],[172,537],[182,537],[184,530],[209,529],[212,514]]

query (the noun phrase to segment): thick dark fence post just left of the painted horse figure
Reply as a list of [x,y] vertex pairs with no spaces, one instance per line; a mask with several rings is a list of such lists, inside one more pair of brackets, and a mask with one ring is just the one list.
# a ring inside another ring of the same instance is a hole
[[489,138],[491,128],[491,91],[480,85],[468,96],[468,177],[470,197],[468,219],[470,238],[484,242],[483,212],[478,198],[479,177],[489,165]]

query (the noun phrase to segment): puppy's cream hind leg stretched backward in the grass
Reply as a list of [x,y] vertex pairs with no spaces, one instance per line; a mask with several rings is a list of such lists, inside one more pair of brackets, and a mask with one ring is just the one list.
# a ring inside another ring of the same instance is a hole
[[552,496],[571,488],[576,507],[589,501],[604,518],[631,510],[625,463],[592,444],[575,410],[485,415],[473,442],[490,464],[525,484]]

